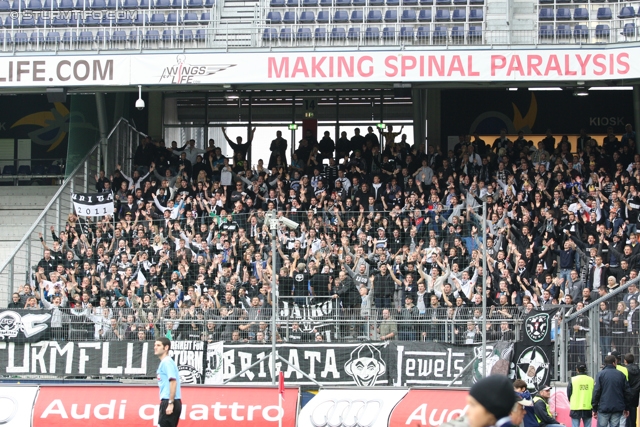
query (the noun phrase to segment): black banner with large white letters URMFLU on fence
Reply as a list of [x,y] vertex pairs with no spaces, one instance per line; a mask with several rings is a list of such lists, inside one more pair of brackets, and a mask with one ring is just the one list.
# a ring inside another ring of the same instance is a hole
[[155,378],[153,341],[0,342],[0,375]]

